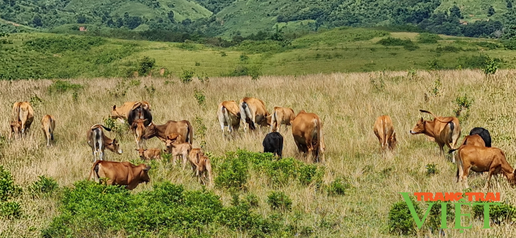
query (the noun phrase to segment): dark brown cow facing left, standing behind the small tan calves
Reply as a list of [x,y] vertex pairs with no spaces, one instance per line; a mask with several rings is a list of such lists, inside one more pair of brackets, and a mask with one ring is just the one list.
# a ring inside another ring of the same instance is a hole
[[190,122],[183,121],[168,121],[163,125],[156,125],[151,123],[149,127],[147,127],[145,135],[143,135],[143,139],[151,139],[153,137],[157,137],[159,140],[165,142],[167,140],[167,135],[171,135],[173,133],[178,133],[181,135],[181,141],[178,143],[193,143],[193,128]]

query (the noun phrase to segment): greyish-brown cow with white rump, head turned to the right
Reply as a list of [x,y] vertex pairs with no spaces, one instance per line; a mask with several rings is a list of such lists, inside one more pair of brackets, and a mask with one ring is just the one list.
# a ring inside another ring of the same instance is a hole
[[91,147],[91,154],[93,155],[93,162],[96,161],[97,154],[99,159],[104,160],[104,149],[107,148],[117,154],[122,154],[122,148],[117,139],[109,139],[105,134],[103,128],[107,131],[111,129],[101,125],[95,124],[86,132],[88,145]]

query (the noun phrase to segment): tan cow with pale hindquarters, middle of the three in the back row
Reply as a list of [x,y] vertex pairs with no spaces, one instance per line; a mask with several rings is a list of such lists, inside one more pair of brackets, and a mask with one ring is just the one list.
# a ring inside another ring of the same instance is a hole
[[254,97],[244,97],[240,100],[240,120],[244,124],[244,131],[247,132],[246,123],[249,129],[256,129],[256,125],[262,127],[270,125],[270,117],[267,118],[269,112],[265,108],[262,100]]

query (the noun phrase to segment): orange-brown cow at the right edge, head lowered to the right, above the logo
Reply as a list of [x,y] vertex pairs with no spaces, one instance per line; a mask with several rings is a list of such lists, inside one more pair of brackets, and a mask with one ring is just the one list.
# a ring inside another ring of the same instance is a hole
[[474,145],[462,145],[457,155],[457,182],[460,179],[466,188],[467,175],[470,169],[477,173],[489,172],[487,183],[484,189],[489,190],[491,176],[503,173],[511,184],[515,184],[514,176],[516,171],[512,169],[505,159],[504,151],[495,147],[480,147]]

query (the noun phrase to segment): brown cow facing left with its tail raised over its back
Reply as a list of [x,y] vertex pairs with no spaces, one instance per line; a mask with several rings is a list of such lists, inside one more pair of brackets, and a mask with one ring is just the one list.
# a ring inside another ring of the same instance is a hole
[[[441,153],[444,154],[444,145],[447,145],[450,149],[454,149],[457,146],[457,140],[460,137],[460,125],[459,119],[455,116],[436,116],[433,113],[425,110],[420,110],[424,113],[429,113],[433,116],[432,121],[425,121],[423,117],[417,121],[416,125],[412,130],[411,134],[426,134],[436,140],[439,145]],[[455,157],[452,156],[453,162],[455,163]]]

